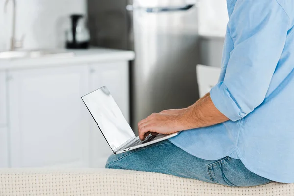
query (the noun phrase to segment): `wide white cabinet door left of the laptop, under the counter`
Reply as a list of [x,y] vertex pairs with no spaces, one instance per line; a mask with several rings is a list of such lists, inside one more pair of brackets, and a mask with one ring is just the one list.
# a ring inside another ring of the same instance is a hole
[[89,165],[87,66],[8,73],[12,167]]

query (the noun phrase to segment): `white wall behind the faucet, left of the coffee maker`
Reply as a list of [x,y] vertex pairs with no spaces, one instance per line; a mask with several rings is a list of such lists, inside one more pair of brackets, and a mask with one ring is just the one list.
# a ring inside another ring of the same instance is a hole
[[[12,1],[4,13],[0,0],[0,50],[9,48],[12,24]],[[25,35],[24,48],[64,46],[64,29],[68,15],[86,13],[86,0],[16,0],[16,38]]]

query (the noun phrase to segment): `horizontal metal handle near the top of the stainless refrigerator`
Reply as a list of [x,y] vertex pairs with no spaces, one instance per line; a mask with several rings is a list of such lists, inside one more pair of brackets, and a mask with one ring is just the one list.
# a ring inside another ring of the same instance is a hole
[[144,10],[148,13],[158,13],[158,12],[187,11],[194,6],[195,4],[188,4],[188,5],[179,6],[179,7],[134,7],[133,5],[127,5],[126,9],[128,11]]

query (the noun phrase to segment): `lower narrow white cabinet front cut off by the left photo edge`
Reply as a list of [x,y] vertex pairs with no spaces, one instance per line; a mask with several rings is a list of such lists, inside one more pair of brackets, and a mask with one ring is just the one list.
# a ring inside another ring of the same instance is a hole
[[8,166],[8,132],[7,128],[0,128],[0,168]]

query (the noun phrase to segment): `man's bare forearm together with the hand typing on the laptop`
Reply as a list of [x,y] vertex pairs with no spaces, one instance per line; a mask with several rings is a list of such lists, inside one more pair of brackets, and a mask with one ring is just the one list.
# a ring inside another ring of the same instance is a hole
[[210,95],[200,98],[185,109],[165,110],[153,113],[138,123],[139,137],[144,140],[151,134],[172,134],[229,120],[213,104]]

